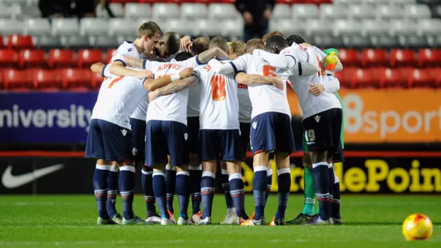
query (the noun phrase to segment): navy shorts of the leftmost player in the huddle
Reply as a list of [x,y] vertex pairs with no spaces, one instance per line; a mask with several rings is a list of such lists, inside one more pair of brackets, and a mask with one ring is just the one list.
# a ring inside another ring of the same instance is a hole
[[132,161],[135,147],[132,131],[99,119],[90,121],[85,157],[105,161]]

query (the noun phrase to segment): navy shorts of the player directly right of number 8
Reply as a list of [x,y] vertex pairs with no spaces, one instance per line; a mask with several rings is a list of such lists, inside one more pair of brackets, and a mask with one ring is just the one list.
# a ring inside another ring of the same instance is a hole
[[252,119],[250,130],[253,155],[259,152],[296,152],[291,118],[287,114],[259,114]]

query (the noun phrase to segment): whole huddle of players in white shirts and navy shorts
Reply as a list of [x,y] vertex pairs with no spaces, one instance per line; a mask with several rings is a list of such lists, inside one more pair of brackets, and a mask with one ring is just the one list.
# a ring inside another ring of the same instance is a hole
[[[278,208],[269,225],[342,223],[333,167],[343,160],[340,83],[331,73],[342,70],[338,51],[321,51],[300,36],[285,39],[280,32],[246,44],[223,37],[181,39],[150,21],[139,27],[135,41],[119,46],[108,65],[96,63],[91,70],[105,76],[85,152],[96,159],[97,224],[210,225],[220,163],[227,205],[222,224],[265,225],[270,158],[277,168]],[[287,85],[303,112],[305,205],[285,222],[289,155],[296,149]],[[251,216],[245,211],[240,167],[248,146],[254,167]],[[135,172],[141,167],[145,220],[132,208]],[[115,206],[118,188],[122,215]]]

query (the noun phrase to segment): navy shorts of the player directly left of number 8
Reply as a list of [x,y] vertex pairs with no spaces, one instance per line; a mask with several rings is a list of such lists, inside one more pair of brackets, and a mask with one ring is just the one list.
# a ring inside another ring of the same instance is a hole
[[183,123],[148,121],[145,138],[145,165],[167,164],[167,154],[170,154],[172,166],[188,164],[188,133]]

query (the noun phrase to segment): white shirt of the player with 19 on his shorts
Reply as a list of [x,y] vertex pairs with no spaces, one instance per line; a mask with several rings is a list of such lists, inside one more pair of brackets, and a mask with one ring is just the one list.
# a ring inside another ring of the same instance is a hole
[[[291,47],[285,48],[280,51],[280,54],[295,54],[295,57],[299,59],[298,63],[302,63],[302,61],[307,61],[307,53],[301,52],[298,49],[297,44],[293,44]],[[307,49],[314,49],[316,52],[318,64],[320,65],[320,61],[322,58],[326,56],[320,49],[316,47],[311,47]],[[296,68],[296,72],[293,72],[294,69],[287,70],[283,73],[283,79],[288,77],[289,84],[296,92],[298,97],[298,102],[300,103],[300,107],[302,108],[303,118],[307,118],[319,112],[329,110],[334,107],[339,107],[340,103],[336,98],[335,94],[329,92],[322,92],[319,96],[314,96],[309,93],[310,85],[319,85],[325,84],[328,81],[327,72],[322,69],[320,65],[320,71],[309,75],[302,76],[301,73]],[[295,74],[295,75],[293,75]],[[300,74],[300,76],[298,76]]]

